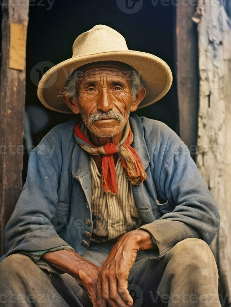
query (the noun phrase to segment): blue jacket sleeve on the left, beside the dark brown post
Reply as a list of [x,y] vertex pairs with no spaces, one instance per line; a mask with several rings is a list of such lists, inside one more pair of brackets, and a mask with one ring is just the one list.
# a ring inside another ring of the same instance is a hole
[[[24,253],[44,268],[47,263],[41,258],[43,253],[33,251],[69,246],[55,231],[58,181],[55,167],[38,147],[34,148],[29,157],[26,183],[5,228],[6,256]],[[47,266],[50,271],[60,273]]]

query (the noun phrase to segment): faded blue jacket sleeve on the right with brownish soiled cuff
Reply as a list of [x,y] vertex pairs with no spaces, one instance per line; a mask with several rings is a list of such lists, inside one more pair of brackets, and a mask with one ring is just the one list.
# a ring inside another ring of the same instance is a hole
[[186,238],[210,244],[220,225],[218,208],[183,142],[163,162],[159,185],[172,211],[140,227],[151,233],[158,247],[147,251],[148,256],[160,259]]

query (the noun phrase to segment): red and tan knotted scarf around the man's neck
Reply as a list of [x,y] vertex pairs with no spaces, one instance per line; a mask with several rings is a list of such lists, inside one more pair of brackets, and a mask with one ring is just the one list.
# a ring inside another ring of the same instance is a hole
[[119,158],[125,169],[127,178],[132,185],[140,185],[146,179],[143,164],[135,149],[130,145],[133,142],[133,133],[129,122],[127,122],[123,138],[116,146],[113,143],[107,143],[103,146],[92,144],[80,130],[80,122],[74,127],[74,135],[77,143],[88,153],[92,155],[103,154],[101,166],[101,187],[104,192],[117,194],[118,186],[116,182],[115,162],[113,154],[119,153]]

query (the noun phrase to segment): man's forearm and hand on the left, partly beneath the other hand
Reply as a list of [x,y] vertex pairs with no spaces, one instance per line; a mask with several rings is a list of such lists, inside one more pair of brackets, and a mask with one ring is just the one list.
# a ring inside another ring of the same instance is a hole
[[46,252],[42,258],[78,280],[86,289],[93,307],[107,306],[105,299],[97,297],[96,284],[100,268],[72,249]]

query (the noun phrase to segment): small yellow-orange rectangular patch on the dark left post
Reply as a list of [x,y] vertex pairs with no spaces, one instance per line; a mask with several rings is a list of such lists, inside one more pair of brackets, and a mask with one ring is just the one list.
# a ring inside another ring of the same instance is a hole
[[26,59],[26,30],[24,24],[10,23],[9,68],[24,70]]

